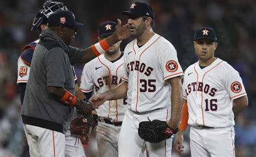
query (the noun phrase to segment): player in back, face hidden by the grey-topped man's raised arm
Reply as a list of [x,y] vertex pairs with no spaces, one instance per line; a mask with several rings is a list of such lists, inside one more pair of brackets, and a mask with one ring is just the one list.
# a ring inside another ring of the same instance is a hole
[[[114,33],[117,23],[107,21],[99,25],[99,40]],[[114,44],[104,54],[85,64],[80,89],[89,99],[91,94],[110,90],[122,82],[124,53],[120,42]],[[96,138],[99,156],[118,156],[118,137],[121,129],[127,98],[106,101],[96,111],[99,116]]]

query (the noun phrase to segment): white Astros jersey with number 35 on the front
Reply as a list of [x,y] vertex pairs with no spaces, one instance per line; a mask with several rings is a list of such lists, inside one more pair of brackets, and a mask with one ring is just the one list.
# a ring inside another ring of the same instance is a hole
[[137,39],[124,50],[124,74],[128,82],[127,107],[146,112],[171,106],[171,86],[165,80],[183,76],[173,45],[155,34],[138,47]]

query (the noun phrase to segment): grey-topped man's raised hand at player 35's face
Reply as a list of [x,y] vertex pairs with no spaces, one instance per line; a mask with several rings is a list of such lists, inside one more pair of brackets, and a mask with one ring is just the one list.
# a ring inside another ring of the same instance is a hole
[[114,31],[114,36],[117,37],[118,40],[124,40],[131,36],[130,28],[128,24],[122,25],[120,19],[117,19],[116,30]]

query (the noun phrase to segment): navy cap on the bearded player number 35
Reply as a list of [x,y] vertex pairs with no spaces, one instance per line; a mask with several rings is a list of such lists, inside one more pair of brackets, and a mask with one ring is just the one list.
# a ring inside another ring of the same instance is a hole
[[154,19],[154,10],[149,3],[134,2],[132,3],[130,10],[123,11],[123,15],[136,15],[136,16],[149,16]]

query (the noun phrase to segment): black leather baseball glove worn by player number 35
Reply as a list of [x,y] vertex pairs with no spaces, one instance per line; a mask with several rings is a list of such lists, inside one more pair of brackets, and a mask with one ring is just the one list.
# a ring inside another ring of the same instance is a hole
[[138,133],[140,138],[147,142],[159,143],[165,139],[169,139],[173,134],[176,134],[178,130],[178,128],[170,128],[166,121],[153,120],[140,122]]

